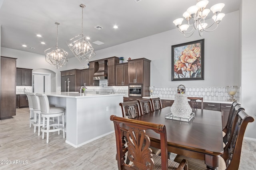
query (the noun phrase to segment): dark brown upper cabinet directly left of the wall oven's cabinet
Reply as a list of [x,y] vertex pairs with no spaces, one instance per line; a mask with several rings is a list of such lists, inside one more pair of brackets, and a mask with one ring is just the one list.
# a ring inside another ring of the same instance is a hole
[[128,63],[116,64],[116,86],[128,85]]

